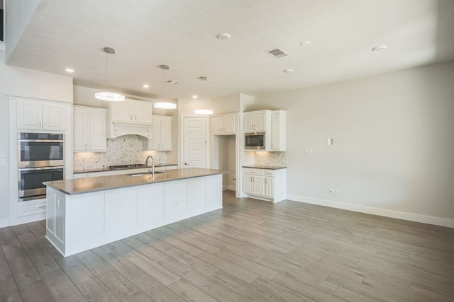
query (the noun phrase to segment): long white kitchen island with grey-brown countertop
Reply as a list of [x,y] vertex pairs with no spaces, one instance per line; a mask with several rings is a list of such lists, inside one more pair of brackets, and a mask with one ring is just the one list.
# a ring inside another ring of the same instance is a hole
[[188,168],[45,182],[46,238],[74,255],[222,208],[223,170]]

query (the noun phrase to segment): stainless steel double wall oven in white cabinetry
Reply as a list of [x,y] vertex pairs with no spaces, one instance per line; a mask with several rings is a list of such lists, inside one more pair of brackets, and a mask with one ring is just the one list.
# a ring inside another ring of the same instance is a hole
[[43,182],[65,179],[65,134],[18,133],[19,202],[45,198]]

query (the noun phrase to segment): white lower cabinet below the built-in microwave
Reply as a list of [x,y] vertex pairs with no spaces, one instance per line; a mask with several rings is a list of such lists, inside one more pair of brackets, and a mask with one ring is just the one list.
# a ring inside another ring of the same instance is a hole
[[243,193],[252,198],[281,202],[287,190],[287,169],[243,168]]

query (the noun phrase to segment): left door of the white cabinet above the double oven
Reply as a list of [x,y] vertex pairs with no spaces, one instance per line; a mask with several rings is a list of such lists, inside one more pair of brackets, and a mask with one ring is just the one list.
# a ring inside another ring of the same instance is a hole
[[17,129],[40,130],[43,122],[43,104],[38,101],[17,101]]

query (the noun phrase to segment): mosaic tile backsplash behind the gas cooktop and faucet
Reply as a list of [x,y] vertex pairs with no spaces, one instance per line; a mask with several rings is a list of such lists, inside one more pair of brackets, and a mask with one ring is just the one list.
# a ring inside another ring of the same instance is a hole
[[166,163],[166,152],[143,151],[142,149],[143,140],[138,135],[123,135],[116,139],[107,139],[106,152],[74,152],[74,170],[145,163],[145,159],[149,155],[155,158],[156,164]]

